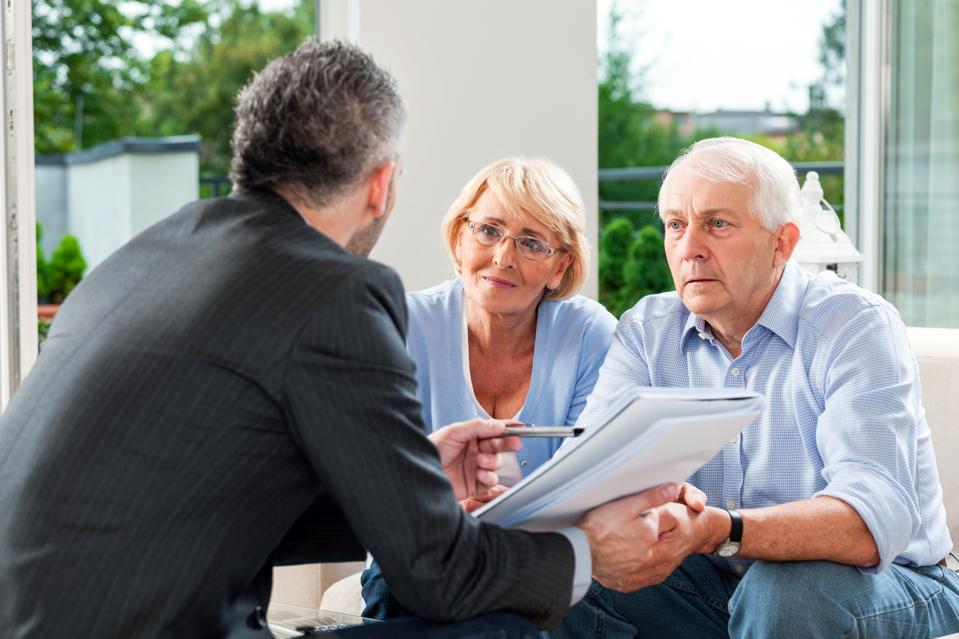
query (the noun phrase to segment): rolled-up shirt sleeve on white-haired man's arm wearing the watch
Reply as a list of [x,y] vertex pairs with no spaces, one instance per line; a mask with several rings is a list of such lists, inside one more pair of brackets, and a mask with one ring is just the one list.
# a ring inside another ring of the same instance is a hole
[[917,434],[925,428],[918,367],[905,326],[873,306],[837,331],[823,350],[823,411],[816,443],[826,486],[814,497],[849,504],[875,540],[881,571],[922,525],[916,491]]

